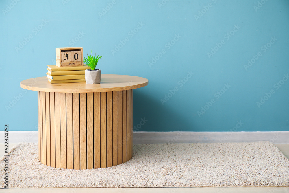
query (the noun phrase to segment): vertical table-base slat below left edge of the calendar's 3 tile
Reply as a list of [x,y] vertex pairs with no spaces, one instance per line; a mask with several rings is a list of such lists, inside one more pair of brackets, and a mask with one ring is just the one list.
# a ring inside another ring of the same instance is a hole
[[66,93],[60,93],[61,168],[67,168],[66,156]]

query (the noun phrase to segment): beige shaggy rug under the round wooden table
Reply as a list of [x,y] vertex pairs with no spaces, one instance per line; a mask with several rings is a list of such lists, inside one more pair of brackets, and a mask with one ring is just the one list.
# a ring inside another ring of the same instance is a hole
[[[3,157],[0,167],[3,182]],[[37,143],[20,143],[10,150],[9,188],[201,186],[288,187],[289,159],[267,141],[134,144],[126,163],[70,170],[40,163]]]

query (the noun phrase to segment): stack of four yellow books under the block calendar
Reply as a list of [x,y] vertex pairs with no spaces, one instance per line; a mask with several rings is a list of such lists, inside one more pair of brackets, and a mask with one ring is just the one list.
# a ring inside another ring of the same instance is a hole
[[86,69],[89,69],[87,65],[72,67],[47,65],[46,77],[50,83],[85,82]]

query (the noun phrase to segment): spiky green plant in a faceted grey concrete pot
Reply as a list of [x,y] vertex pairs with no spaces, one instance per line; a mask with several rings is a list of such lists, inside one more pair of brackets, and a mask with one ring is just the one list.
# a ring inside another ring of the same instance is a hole
[[87,58],[83,57],[83,61],[90,69],[85,70],[85,82],[86,84],[99,84],[101,79],[100,69],[95,69],[98,63],[98,60],[102,56],[93,55],[91,51],[91,55],[87,54]]

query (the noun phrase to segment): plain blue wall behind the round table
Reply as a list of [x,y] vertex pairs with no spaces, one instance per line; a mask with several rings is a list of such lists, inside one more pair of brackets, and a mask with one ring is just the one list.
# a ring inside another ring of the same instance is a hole
[[45,76],[55,47],[92,49],[103,55],[102,73],[149,79],[134,90],[134,130],[289,130],[287,0],[5,0],[0,7],[1,124],[11,130],[37,130],[37,92],[20,82]]

